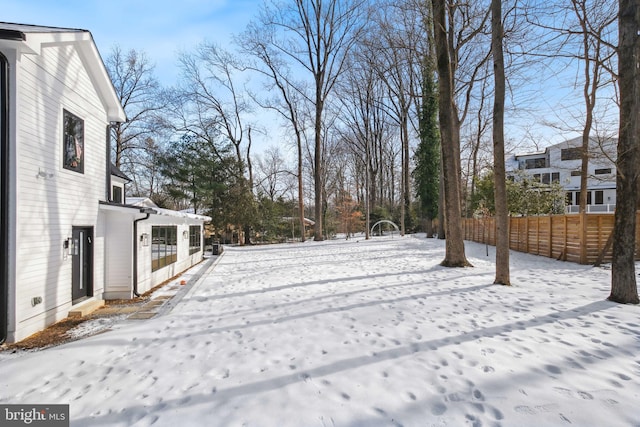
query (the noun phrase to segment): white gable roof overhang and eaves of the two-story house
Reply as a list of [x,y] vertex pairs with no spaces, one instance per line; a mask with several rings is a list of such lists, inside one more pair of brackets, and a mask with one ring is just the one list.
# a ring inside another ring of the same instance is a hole
[[88,30],[0,22],[0,47],[14,48],[20,54],[39,55],[43,47],[65,44],[77,47],[109,121],[125,122],[127,116]]

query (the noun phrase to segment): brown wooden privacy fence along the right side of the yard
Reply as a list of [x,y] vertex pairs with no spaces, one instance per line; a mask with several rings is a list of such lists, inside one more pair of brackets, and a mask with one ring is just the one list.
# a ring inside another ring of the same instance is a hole
[[[580,230],[586,221],[586,239]],[[549,215],[509,218],[509,247],[515,251],[583,264],[611,262],[612,214]],[[464,238],[495,246],[495,218],[463,218]],[[636,259],[640,260],[640,211],[636,212]],[[606,249],[606,251],[605,251]]]

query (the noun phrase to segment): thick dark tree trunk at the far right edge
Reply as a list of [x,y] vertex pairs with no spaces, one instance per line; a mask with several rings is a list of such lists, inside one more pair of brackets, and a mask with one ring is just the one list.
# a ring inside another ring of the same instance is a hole
[[616,173],[616,212],[609,300],[638,304],[635,273],[636,203],[640,161],[640,7],[636,0],[619,0],[618,82],[620,134]]

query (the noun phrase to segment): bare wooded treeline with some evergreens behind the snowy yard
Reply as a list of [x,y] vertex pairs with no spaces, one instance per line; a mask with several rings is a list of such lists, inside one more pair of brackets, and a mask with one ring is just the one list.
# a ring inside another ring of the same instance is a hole
[[304,240],[305,218],[322,240],[368,237],[379,219],[432,235],[440,217],[445,264],[466,265],[459,221],[445,218],[505,222],[518,192],[558,209],[551,187],[505,188],[505,152],[582,135],[586,186],[589,137],[617,135],[618,6],[266,0],[231,45],[183,52],[172,87],[144,52],[113,49],[129,117],[113,159],[130,195],[208,214],[245,243]]

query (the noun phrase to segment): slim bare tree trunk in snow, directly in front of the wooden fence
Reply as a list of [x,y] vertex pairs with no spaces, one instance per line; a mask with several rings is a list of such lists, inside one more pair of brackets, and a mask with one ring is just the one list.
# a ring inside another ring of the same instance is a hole
[[504,97],[502,0],[491,0],[491,49],[495,98],[493,102],[493,176],[496,204],[496,278],[493,283],[511,285],[509,277],[509,213],[504,163]]

